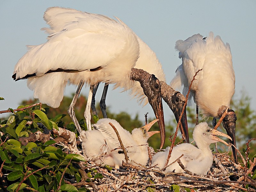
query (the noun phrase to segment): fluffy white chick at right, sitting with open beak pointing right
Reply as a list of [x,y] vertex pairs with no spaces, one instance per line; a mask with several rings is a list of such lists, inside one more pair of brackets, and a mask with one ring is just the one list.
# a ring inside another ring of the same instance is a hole
[[[216,137],[216,135],[227,137],[231,140],[228,135],[215,129],[211,129],[206,122],[202,122],[196,125],[193,131],[193,138],[196,141],[198,148],[189,143],[182,143],[175,146],[172,149],[171,158],[168,164],[174,162],[183,154],[183,156],[180,158],[180,161],[188,171],[199,175],[206,174],[212,166],[213,161],[212,151],[209,147],[210,144],[220,141],[228,145],[228,143]],[[167,147],[164,151],[156,153],[152,158],[152,165],[157,164],[157,167],[163,168],[169,150],[170,147]],[[177,162],[167,167],[165,171],[172,172],[173,170],[175,172],[184,172],[184,170]]]

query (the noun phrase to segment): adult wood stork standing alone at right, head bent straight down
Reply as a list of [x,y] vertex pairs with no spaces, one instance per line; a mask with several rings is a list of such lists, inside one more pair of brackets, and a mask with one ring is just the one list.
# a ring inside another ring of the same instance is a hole
[[[235,92],[235,73],[232,66],[232,56],[229,44],[224,44],[220,36],[214,37],[212,32],[203,38],[200,34],[193,35],[176,42],[182,64],[176,70],[171,86],[184,86],[183,94],[187,94],[190,82],[196,75],[191,86],[189,98],[196,101],[204,117],[212,116],[213,122],[220,118],[228,108],[228,114],[223,120],[223,127],[236,146],[236,114],[230,107],[230,100]],[[198,120],[197,120],[198,123]],[[234,160],[237,163],[236,149],[232,146]]]

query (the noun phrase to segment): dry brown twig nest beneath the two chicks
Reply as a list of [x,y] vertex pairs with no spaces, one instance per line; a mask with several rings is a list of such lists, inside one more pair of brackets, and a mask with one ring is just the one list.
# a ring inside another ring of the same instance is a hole
[[94,162],[88,162],[87,165],[94,165],[98,173],[105,176],[93,181],[96,185],[94,191],[174,191],[178,186],[180,191],[256,191],[252,188],[256,187],[256,181],[246,176],[244,168],[231,161],[226,153],[215,154],[207,175],[163,172],[155,167],[134,166],[124,162],[120,169],[113,168],[111,171]]

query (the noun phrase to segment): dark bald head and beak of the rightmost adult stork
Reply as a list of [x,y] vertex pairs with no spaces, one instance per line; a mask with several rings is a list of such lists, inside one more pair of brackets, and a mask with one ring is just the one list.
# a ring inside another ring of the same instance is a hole
[[[232,109],[228,109],[227,115],[224,117],[222,121],[223,127],[226,129],[228,135],[232,138],[230,139],[230,143],[232,143],[236,147],[236,114]],[[232,146],[232,152],[234,161],[237,164],[237,153],[236,148]]]

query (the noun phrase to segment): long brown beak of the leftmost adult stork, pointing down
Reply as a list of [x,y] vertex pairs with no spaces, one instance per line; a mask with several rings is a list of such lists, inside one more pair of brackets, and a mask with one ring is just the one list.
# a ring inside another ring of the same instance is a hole
[[160,135],[161,135],[161,145],[160,145],[160,149],[161,149],[164,146],[164,140],[165,140],[164,110],[163,110],[161,93],[159,93],[159,95],[155,97],[155,100],[151,100],[148,98],[148,102],[152,106],[156,118],[159,119],[157,123],[160,129]]

